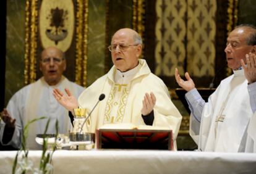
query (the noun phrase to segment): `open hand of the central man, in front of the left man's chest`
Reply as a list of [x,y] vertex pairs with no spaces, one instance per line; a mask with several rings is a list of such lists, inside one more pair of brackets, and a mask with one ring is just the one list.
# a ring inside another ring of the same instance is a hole
[[67,110],[73,112],[73,109],[78,108],[77,99],[70,93],[69,89],[65,88],[66,94],[61,92],[61,90],[55,88],[53,89],[53,96],[55,99],[64,106]]

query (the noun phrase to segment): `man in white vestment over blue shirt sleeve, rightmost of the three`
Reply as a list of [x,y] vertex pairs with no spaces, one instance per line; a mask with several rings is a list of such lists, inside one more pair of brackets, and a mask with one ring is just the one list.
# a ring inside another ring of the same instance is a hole
[[[256,124],[253,125],[251,119],[256,110],[256,28],[252,25],[236,27],[229,34],[224,51],[233,75],[221,81],[208,102],[198,93],[189,73],[186,72],[186,80],[182,80],[177,68],[175,70],[177,83],[187,91],[190,135],[200,151],[253,152]],[[252,129],[248,126],[254,128],[254,133],[249,132]]]

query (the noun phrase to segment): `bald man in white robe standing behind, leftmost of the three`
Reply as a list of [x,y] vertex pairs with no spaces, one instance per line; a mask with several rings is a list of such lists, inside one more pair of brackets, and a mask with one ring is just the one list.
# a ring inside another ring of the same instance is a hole
[[[59,133],[68,133],[70,121],[67,110],[62,107],[52,93],[53,89],[69,88],[78,97],[83,87],[79,86],[62,75],[66,70],[64,52],[55,47],[48,47],[41,52],[40,70],[43,77],[20,89],[12,96],[7,108],[1,113],[0,141],[4,146],[19,149],[23,126],[34,118],[45,116],[51,118],[47,134],[56,133],[55,120],[59,122]],[[28,131],[28,149],[40,149],[36,144],[36,134],[43,134],[47,119],[38,120],[30,125]]]

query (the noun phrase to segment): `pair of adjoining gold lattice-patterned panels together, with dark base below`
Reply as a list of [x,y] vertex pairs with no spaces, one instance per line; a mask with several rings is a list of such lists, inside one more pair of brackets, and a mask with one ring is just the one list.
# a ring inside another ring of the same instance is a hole
[[[199,86],[215,75],[216,1],[156,1],[155,74],[177,86],[174,68],[189,72]],[[205,77],[208,77],[205,80]]]

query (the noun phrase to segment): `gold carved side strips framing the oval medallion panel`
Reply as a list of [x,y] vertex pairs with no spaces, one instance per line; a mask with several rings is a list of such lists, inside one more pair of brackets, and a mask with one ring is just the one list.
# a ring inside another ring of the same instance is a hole
[[[75,82],[87,85],[88,0],[75,0]],[[25,85],[36,80],[38,0],[25,1]]]

